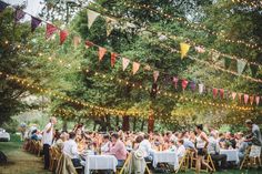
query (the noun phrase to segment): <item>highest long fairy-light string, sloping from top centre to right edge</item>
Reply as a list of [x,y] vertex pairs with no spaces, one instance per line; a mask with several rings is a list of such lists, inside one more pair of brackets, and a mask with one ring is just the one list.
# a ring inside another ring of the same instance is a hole
[[139,10],[143,10],[143,9],[148,10],[152,14],[157,13],[157,14],[159,14],[163,18],[167,18],[171,21],[179,21],[179,22],[185,24],[187,27],[192,28],[193,30],[198,30],[198,31],[203,30],[209,34],[212,34],[212,35],[215,35],[215,37],[221,37],[221,39],[223,39],[228,43],[242,44],[242,45],[245,45],[246,48],[258,50],[258,51],[262,50],[262,48],[259,47],[256,43],[250,43],[250,42],[246,42],[244,40],[229,39],[229,38],[226,38],[226,35],[224,33],[212,31],[212,30],[208,29],[204,24],[191,23],[184,18],[174,17],[173,14],[165,13],[162,10],[153,9],[150,4],[139,4],[139,3],[135,3],[135,2],[132,2],[132,1],[125,1],[123,4],[127,6],[128,8],[133,8],[133,9],[139,9]]

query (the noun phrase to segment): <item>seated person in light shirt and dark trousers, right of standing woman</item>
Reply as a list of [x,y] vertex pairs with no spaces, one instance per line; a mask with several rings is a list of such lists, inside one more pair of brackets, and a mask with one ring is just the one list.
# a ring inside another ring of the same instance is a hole
[[209,137],[208,153],[210,154],[212,161],[216,164],[216,166],[218,166],[219,162],[221,162],[220,168],[225,170],[226,155],[220,154],[218,133],[214,131],[211,132],[211,135]]

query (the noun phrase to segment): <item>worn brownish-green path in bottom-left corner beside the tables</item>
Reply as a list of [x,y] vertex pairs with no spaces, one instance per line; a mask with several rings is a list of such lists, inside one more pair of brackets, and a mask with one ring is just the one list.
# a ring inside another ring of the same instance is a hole
[[8,164],[0,165],[0,174],[51,174],[43,170],[41,157],[24,152],[18,143],[1,142],[0,150],[8,156]]

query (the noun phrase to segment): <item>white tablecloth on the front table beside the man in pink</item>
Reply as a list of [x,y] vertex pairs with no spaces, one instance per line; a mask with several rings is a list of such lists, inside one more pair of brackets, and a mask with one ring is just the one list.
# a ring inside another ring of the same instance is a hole
[[90,170],[112,170],[117,171],[118,160],[113,155],[88,155],[85,157],[84,174]]

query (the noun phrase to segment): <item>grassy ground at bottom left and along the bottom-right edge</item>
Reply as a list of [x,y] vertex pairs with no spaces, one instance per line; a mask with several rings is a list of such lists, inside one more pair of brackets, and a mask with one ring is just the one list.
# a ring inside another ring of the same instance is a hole
[[[41,157],[24,152],[21,149],[22,143],[18,136],[12,136],[11,142],[0,142],[0,151],[8,156],[8,164],[0,165],[0,174],[51,174],[43,168]],[[185,172],[180,172],[181,174]],[[215,172],[216,174],[262,174],[262,170],[229,170],[226,172]],[[157,173],[154,173],[157,174]],[[194,174],[189,171],[187,174]]]

